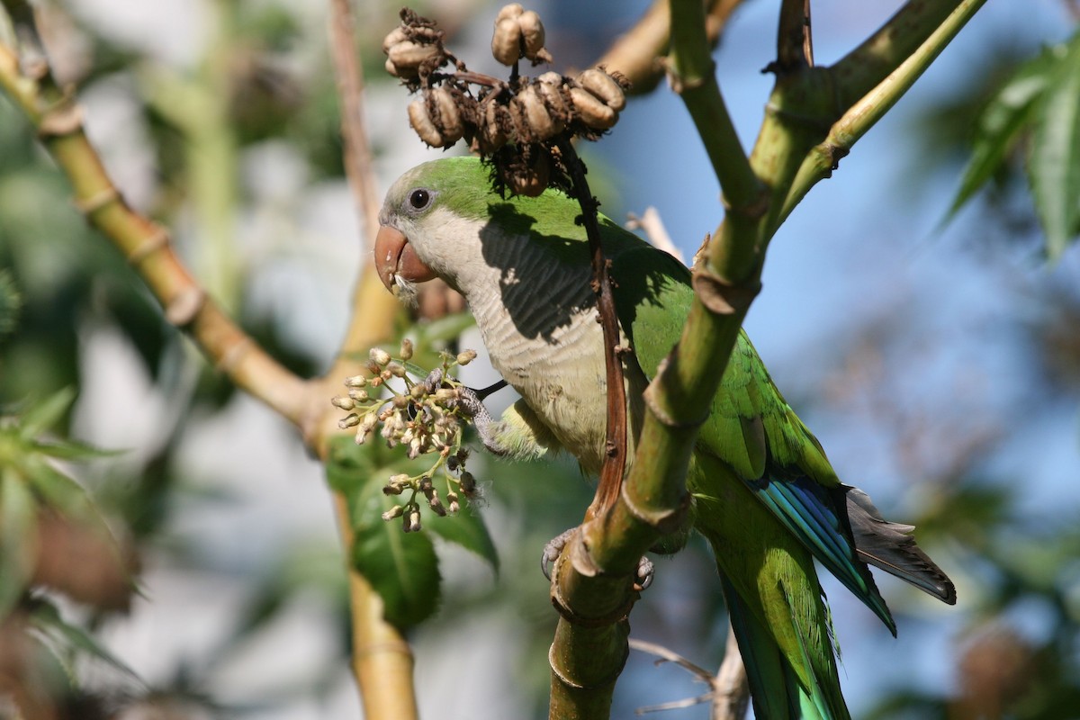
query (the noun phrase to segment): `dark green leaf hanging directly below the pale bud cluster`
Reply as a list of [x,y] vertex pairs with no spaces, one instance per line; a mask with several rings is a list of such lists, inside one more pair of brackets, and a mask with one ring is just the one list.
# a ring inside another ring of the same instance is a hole
[[351,437],[337,437],[330,445],[326,474],[330,486],[349,498],[352,565],[382,597],[387,622],[404,630],[438,608],[438,558],[426,533],[406,533],[401,522],[382,519],[394,499],[382,493],[390,473],[373,461],[378,452],[375,444],[357,446]]

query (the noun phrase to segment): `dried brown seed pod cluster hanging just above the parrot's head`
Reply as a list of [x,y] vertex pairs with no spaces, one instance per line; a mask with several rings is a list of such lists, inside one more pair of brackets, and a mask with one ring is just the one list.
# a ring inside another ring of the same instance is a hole
[[[402,26],[383,43],[387,67],[421,95],[408,106],[409,124],[431,147],[460,139],[491,160],[497,187],[537,195],[568,187],[553,148],[573,137],[595,140],[625,107],[625,78],[593,68],[576,78],[517,74],[521,58],[551,62],[540,17],[514,3],[496,18],[491,53],[513,67],[509,80],[470,72],[443,45],[431,21],[402,11]],[[441,70],[453,63],[453,71]]]

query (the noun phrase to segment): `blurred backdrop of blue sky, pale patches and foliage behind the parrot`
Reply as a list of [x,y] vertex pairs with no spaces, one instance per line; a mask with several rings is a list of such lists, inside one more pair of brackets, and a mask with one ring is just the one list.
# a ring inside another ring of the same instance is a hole
[[[442,153],[408,128],[409,98],[381,69],[399,5],[354,4],[384,189]],[[901,3],[819,4],[815,58],[829,64]],[[647,5],[530,6],[567,70],[594,62]],[[498,71],[496,3],[416,9],[471,69]],[[341,167],[326,3],[67,0],[43,11],[56,72],[78,83],[124,196],[173,229],[195,275],[272,354],[302,376],[324,371],[365,252]],[[1045,258],[1021,146],[949,217],[977,112],[1020,63],[1072,35],[1076,12],[1064,0],[988,2],[783,226],[746,323],[841,478],[917,525],[957,584],[949,608],[879,576],[893,639],[825,581],[853,717],[1080,718],[1080,252]],[[760,69],[775,14],[775,2],[748,0],[715,54],[746,146],[771,87]],[[632,100],[584,158],[604,212],[623,221],[656,207],[687,257],[720,218],[700,140],[666,87]],[[357,717],[321,466],[162,323],[69,198],[0,97],[0,281],[22,297],[14,327],[0,328],[0,404],[78,389],[66,434],[121,452],[66,470],[140,567],[122,612],[54,598],[66,623],[137,674],[90,646],[70,665],[42,658],[58,668],[57,717]],[[473,367],[465,380],[481,384]],[[537,556],[580,519],[592,486],[568,461],[554,472],[487,462],[477,475],[502,569],[438,546],[443,607],[411,638],[421,714],[546,717],[555,613]],[[659,561],[632,625],[716,667],[725,615],[703,544]],[[45,644],[67,660],[72,642]],[[2,648],[0,637],[0,675]],[[635,652],[612,717],[702,692]],[[0,717],[10,711],[0,704]],[[706,718],[707,707],[666,717]]]

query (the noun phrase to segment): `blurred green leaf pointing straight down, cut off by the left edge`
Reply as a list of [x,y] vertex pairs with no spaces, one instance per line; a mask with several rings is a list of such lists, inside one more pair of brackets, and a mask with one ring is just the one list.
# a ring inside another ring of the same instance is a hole
[[5,468],[0,475],[0,617],[26,590],[37,555],[37,506],[23,478]]

